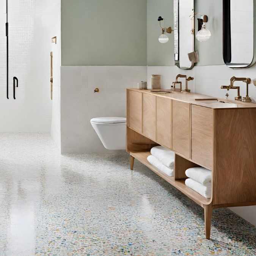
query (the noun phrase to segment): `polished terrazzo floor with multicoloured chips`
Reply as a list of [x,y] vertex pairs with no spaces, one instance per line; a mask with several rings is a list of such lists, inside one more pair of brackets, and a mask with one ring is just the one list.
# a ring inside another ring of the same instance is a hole
[[0,134],[0,255],[256,254],[256,229],[203,208],[129,155],[60,155],[48,134]]

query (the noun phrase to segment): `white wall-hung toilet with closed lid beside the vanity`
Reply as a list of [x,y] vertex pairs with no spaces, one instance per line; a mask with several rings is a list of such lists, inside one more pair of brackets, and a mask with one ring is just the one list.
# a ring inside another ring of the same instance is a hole
[[126,118],[96,117],[91,125],[106,149],[126,149]]

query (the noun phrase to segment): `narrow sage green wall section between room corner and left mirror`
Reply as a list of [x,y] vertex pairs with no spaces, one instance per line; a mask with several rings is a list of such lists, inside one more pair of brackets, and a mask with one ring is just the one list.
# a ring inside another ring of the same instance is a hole
[[[173,33],[166,34],[169,41],[161,44],[158,41],[162,30],[157,18],[165,19],[165,27],[173,28],[173,0],[148,0],[147,6],[147,59],[148,66],[174,65],[174,39]],[[163,26],[164,22],[161,23]]]

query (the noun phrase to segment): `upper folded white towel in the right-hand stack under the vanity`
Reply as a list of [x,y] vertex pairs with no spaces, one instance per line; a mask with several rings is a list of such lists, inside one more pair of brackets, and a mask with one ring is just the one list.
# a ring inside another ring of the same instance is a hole
[[189,168],[185,171],[185,174],[189,178],[201,183],[202,185],[206,185],[206,183],[212,181],[212,171],[207,170],[206,168],[203,167]]

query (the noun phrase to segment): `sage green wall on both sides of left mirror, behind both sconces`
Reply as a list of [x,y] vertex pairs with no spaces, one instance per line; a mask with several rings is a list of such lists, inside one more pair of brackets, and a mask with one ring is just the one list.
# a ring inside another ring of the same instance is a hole
[[[195,48],[199,55],[199,63],[196,65],[224,64],[222,57],[222,0],[195,0],[195,11],[208,16],[206,27],[212,34],[206,42],[195,40]],[[157,22],[157,17],[162,16],[166,19],[166,27],[173,27],[173,0],[148,0],[147,14],[148,65],[173,66],[174,34],[167,34],[169,41],[166,44],[161,44],[158,41],[161,29]],[[196,21],[197,17],[200,16],[196,16]],[[197,33],[197,24],[195,27]]]

